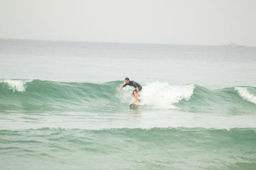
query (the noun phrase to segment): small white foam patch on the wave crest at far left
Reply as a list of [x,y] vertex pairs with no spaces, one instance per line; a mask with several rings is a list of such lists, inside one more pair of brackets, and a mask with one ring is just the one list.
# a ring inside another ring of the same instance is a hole
[[0,80],[0,82],[6,83],[10,90],[13,92],[24,92],[26,89],[26,83],[32,82],[32,79],[29,80]]

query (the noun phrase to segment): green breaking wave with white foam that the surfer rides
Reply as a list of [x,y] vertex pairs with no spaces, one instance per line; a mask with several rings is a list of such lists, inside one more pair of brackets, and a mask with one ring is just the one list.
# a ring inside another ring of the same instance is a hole
[[[134,100],[132,87],[117,92],[122,84],[123,81],[94,84],[1,79],[0,110],[115,112]],[[256,87],[212,90],[193,83],[150,82],[143,85],[141,96],[142,109],[228,114],[255,114],[256,111]]]

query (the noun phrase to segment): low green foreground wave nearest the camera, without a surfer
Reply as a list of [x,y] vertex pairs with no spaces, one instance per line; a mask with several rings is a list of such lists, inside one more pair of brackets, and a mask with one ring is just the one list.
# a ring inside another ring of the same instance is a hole
[[0,158],[3,169],[254,169],[255,130],[0,130]]

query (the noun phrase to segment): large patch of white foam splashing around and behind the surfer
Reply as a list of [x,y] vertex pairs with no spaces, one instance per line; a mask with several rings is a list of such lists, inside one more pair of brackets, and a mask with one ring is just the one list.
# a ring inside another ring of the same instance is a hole
[[[170,85],[168,83],[151,82],[142,86],[140,105],[157,108],[157,109],[172,109],[176,108],[173,104],[178,103],[182,99],[189,100],[194,91],[194,84],[186,85]],[[134,88],[122,89],[122,92],[116,95],[122,103],[129,103],[134,98],[131,96]]]

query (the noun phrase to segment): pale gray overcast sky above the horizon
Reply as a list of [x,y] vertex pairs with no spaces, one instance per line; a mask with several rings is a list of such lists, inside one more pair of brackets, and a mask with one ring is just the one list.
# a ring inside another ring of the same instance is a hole
[[256,0],[0,0],[0,38],[256,46]]

